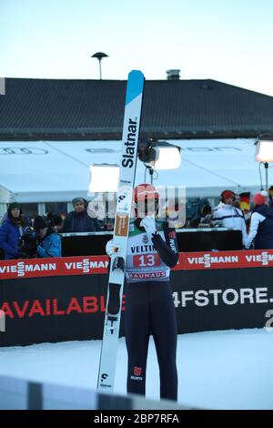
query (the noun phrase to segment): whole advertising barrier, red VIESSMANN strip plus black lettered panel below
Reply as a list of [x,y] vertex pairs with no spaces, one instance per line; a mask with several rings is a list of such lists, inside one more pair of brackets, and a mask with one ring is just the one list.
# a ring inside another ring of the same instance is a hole
[[[1,261],[0,346],[101,339],[107,265],[106,256]],[[264,327],[272,268],[272,250],[180,253],[171,276],[177,331]],[[125,310],[126,289],[121,335]]]

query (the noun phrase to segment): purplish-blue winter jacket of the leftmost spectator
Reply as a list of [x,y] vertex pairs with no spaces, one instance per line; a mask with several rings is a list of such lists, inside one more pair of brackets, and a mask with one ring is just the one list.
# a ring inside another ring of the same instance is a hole
[[0,248],[5,252],[5,260],[18,259],[20,255],[20,237],[25,232],[22,226],[16,226],[7,217],[0,227]]

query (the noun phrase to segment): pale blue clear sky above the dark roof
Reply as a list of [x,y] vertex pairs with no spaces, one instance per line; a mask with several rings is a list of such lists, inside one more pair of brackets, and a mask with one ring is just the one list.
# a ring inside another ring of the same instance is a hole
[[215,79],[273,96],[272,0],[0,0],[0,76]]

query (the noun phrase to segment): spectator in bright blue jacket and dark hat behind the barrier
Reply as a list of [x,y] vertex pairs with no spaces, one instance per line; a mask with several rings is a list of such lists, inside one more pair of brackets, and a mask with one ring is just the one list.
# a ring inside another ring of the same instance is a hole
[[61,257],[62,242],[61,237],[48,226],[45,219],[37,216],[34,221],[34,229],[37,238],[37,256],[38,257]]

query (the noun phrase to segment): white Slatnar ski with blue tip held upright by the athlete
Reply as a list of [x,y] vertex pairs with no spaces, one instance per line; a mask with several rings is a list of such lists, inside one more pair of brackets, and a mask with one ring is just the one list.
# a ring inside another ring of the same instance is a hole
[[111,391],[115,381],[116,352],[125,279],[129,219],[136,175],[137,143],[143,88],[143,74],[137,70],[131,71],[128,75],[126,87],[126,106],[113,236],[119,250],[116,255],[114,254],[111,257],[110,263],[104,335],[97,379],[97,389],[99,391]]

